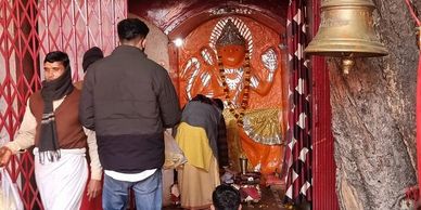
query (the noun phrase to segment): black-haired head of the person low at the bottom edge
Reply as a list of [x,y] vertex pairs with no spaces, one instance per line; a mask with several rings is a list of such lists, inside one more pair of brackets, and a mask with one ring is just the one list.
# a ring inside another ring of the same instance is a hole
[[234,187],[221,184],[215,188],[212,200],[216,210],[237,210],[240,207],[241,197]]

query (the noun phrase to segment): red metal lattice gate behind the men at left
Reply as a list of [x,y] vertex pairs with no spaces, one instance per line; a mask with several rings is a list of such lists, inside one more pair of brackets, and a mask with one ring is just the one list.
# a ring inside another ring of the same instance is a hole
[[[71,57],[74,79],[81,77],[82,53],[98,45],[109,54],[117,44],[116,23],[127,16],[119,0],[0,0],[0,137],[13,141],[28,96],[40,88],[41,63],[53,50]],[[21,185],[25,209],[42,209],[30,153],[7,170]]]

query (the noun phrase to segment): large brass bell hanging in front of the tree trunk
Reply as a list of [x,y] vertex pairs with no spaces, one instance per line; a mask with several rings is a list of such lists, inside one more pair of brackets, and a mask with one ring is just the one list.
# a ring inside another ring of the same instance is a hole
[[321,23],[316,37],[304,50],[309,55],[342,57],[348,74],[354,57],[387,55],[374,34],[371,0],[322,0]]

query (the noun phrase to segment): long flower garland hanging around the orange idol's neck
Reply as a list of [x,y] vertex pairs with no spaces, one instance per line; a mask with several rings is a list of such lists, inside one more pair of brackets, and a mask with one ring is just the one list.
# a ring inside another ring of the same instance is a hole
[[244,111],[248,106],[248,99],[250,99],[250,83],[251,83],[250,53],[248,51],[245,52],[244,80],[243,80],[244,88],[242,90],[243,99],[241,100],[241,107],[238,109],[234,108],[234,105],[232,104],[229,95],[230,92],[226,80],[227,77],[225,76],[225,68],[224,68],[224,64],[220,55],[218,55],[218,67],[219,67],[219,77],[222,79],[225,100],[228,102],[229,110],[232,115],[234,115],[237,119],[237,123],[240,127],[243,127]]

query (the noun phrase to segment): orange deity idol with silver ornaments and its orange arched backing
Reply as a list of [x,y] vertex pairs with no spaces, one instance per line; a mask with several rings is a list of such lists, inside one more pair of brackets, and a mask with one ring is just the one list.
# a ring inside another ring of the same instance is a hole
[[229,15],[192,30],[178,49],[181,106],[196,94],[221,99],[231,167],[279,172],[286,124],[280,34],[253,18]]

